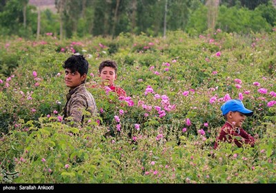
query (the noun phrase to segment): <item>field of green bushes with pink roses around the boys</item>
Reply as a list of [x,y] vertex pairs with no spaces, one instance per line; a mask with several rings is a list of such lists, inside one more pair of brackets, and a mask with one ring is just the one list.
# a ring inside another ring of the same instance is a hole
[[[1,183],[276,183],[276,31],[59,41],[1,37]],[[62,124],[65,61],[83,54],[98,114]],[[92,88],[118,63],[127,97]],[[221,143],[220,107],[241,99],[255,147]]]

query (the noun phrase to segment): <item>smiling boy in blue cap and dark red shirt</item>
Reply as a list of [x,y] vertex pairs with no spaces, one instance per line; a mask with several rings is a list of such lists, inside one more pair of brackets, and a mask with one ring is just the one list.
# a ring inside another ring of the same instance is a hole
[[226,123],[222,126],[219,136],[215,141],[214,148],[217,148],[219,141],[227,141],[234,143],[237,147],[242,147],[242,144],[250,144],[254,147],[255,139],[242,129],[246,116],[252,116],[253,111],[244,107],[244,104],[239,99],[230,99],[221,105],[221,112]]

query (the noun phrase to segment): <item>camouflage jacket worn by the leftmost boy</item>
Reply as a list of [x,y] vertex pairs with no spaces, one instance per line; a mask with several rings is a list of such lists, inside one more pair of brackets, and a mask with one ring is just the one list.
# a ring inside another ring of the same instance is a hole
[[88,90],[86,90],[85,84],[77,86],[73,90],[69,90],[66,94],[66,106],[64,107],[64,116],[63,123],[68,123],[69,120],[66,120],[69,116],[72,117],[72,120],[76,123],[83,123],[85,111],[90,112],[90,116],[96,116],[97,114],[97,105],[94,97]]

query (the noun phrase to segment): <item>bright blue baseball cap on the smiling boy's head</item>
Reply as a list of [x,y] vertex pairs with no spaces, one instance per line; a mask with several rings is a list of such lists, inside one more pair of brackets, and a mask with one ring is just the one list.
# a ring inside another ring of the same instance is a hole
[[230,111],[242,112],[242,114],[245,114],[246,116],[253,115],[253,111],[245,108],[244,104],[239,99],[230,99],[229,101],[226,101],[223,105],[221,105],[220,110],[222,111],[222,115],[225,115]]

